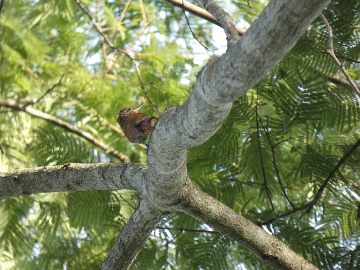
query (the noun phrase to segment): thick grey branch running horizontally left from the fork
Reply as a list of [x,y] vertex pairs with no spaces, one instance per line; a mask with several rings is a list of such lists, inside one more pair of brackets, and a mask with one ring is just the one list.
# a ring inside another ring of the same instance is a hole
[[140,192],[147,167],[137,163],[67,163],[0,174],[0,201],[42,192],[130,189]]

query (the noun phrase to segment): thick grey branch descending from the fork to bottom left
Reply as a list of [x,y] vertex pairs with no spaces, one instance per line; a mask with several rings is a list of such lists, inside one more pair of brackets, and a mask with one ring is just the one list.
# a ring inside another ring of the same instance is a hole
[[100,269],[129,269],[150,233],[166,215],[149,205],[150,203],[146,201],[139,204],[117,237]]

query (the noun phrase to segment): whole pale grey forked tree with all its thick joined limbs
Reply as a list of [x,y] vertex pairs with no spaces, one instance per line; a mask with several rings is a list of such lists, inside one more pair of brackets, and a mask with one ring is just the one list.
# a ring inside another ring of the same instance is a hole
[[102,269],[128,269],[168,212],[186,213],[206,222],[275,269],[316,269],[281,241],[195,188],[186,174],[186,149],[202,144],[220,128],[234,100],[280,62],[328,3],[270,1],[243,37],[202,69],[185,104],[169,107],[159,117],[150,138],[147,169],[104,164],[9,172],[0,175],[1,198],[88,189],[138,191],[140,206]]

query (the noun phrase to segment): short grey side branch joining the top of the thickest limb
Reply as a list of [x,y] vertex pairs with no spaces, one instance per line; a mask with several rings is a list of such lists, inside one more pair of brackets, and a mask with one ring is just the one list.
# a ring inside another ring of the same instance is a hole
[[235,27],[234,21],[230,18],[229,13],[222,9],[213,0],[198,0],[204,8],[213,15],[217,21],[221,23],[222,28],[225,30],[226,39],[228,40],[228,49],[234,46],[238,40],[239,35]]

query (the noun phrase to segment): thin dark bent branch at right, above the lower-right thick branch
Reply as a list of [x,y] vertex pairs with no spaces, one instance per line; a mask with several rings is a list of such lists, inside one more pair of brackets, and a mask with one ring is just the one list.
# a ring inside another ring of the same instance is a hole
[[296,213],[296,212],[299,212],[301,210],[304,210],[306,208],[308,208],[308,210],[306,212],[308,212],[311,207],[313,207],[316,203],[318,203],[321,199],[321,196],[323,195],[323,192],[324,192],[324,189],[326,187],[326,185],[329,183],[330,179],[335,175],[336,171],[341,167],[341,165],[343,165],[346,161],[346,159],[348,159],[351,154],[355,151],[356,148],[358,148],[360,146],[360,139],[356,141],[356,143],[339,159],[339,162],[336,164],[336,166],[333,168],[332,171],[329,172],[328,176],[325,178],[325,181],[324,183],[320,186],[319,190],[318,190],[318,193],[316,193],[314,199],[312,199],[311,202],[307,203],[307,204],[304,204],[294,210],[291,210],[291,211],[288,211],[286,213],[283,213],[277,217],[274,217],[273,219],[271,220],[268,220],[266,222],[262,222],[262,223],[259,223],[258,225],[269,225],[270,223],[274,222],[275,220],[277,219],[280,219],[282,217],[285,217],[285,216],[289,216],[289,215],[292,215],[293,213]]

